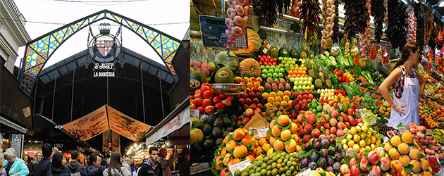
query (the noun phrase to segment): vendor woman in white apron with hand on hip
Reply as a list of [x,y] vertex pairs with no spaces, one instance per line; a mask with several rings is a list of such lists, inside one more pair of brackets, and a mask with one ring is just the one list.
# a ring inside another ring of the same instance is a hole
[[[410,42],[402,49],[401,58],[396,68],[379,86],[384,99],[392,106],[388,126],[397,128],[397,125],[419,125],[419,96],[424,92],[426,82],[413,65],[421,61],[419,46]],[[388,87],[393,86],[393,99]]]

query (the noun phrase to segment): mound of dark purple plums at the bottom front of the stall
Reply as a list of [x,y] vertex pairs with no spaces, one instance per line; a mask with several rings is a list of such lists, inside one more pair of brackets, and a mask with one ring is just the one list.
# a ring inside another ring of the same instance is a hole
[[301,167],[316,170],[322,168],[328,172],[338,172],[343,163],[342,147],[336,144],[333,136],[321,136],[307,142],[300,152]]

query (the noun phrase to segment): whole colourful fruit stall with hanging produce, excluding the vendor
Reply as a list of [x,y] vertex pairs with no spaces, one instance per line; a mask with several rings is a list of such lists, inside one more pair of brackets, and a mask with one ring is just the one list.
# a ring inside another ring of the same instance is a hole
[[[373,176],[442,170],[443,23],[430,4],[274,3],[226,1],[214,4],[224,11],[214,16],[214,8],[208,13],[204,2],[192,1],[200,14],[190,39],[195,171]],[[415,69],[427,83],[420,122],[390,127],[391,106],[379,87],[409,42],[419,45]]]

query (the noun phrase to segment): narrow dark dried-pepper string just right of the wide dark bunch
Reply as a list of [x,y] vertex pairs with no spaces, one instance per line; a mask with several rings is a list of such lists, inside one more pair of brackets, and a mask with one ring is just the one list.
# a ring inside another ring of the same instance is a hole
[[371,15],[374,16],[375,25],[375,39],[376,42],[381,41],[383,35],[383,23],[386,14],[386,8],[384,7],[384,0],[372,0],[371,1]]

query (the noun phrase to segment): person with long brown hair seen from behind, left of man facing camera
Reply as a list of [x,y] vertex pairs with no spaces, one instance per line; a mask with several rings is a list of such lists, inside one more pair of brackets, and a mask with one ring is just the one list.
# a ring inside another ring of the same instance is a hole
[[120,151],[111,153],[108,168],[104,170],[104,176],[131,176],[130,170],[122,165],[122,154]]

